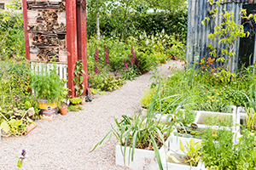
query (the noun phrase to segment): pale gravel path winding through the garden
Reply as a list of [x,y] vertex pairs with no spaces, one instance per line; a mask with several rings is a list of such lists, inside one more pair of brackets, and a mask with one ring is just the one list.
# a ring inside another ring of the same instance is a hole
[[[160,66],[161,72],[168,74],[168,67],[179,62],[169,62]],[[57,116],[53,121],[38,120],[38,127],[19,138],[2,138],[0,142],[0,170],[15,170],[19,150],[27,149],[29,160],[22,169],[27,170],[115,170],[129,169],[115,165],[114,145],[117,140],[106,139],[95,151],[89,153],[114,124],[113,116],[132,116],[140,108],[139,99],[148,88],[148,72],[137,80],[127,83],[112,93],[97,96],[84,105],[84,111],[69,112]]]

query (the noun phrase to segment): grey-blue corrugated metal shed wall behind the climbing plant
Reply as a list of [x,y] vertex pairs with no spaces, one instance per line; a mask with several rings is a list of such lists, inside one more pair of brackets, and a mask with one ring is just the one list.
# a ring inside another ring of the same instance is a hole
[[[236,24],[241,24],[241,14],[239,13],[241,11],[242,4],[247,3],[256,3],[256,0],[226,0],[217,7],[218,14],[221,14],[224,11],[233,11]],[[211,6],[207,3],[207,0],[189,0],[187,60],[190,65],[199,62],[204,56],[210,57],[210,49],[207,48],[210,43],[215,48],[225,48],[224,44],[218,44],[219,40],[217,38],[213,40],[208,38],[208,35],[214,30],[215,25],[213,20],[207,21],[206,26],[201,25],[201,21],[204,20],[205,17],[211,18],[210,11],[212,8],[216,8],[216,6],[216,4]],[[219,17],[216,18],[218,26],[223,21],[224,20]],[[236,53],[236,56],[230,59],[230,71],[236,72],[239,56],[239,40],[235,42],[234,52]],[[218,54],[221,54],[220,50],[218,50]],[[227,58],[227,56],[225,56],[225,58]],[[221,63],[216,64],[216,66],[220,65]]]

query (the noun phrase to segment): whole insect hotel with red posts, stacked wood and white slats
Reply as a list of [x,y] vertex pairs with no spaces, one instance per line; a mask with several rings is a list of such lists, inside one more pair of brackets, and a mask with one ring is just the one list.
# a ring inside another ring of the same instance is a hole
[[[84,94],[88,88],[87,35],[85,0],[22,0],[26,59],[32,69],[49,69],[57,65],[61,78],[70,95],[75,96],[75,65],[82,60],[84,71]],[[55,63],[55,64],[52,64]]]

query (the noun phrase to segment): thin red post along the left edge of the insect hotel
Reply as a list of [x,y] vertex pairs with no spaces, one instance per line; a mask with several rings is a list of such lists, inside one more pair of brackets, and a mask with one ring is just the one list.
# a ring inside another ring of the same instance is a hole
[[24,20],[24,36],[25,36],[25,48],[26,48],[26,59],[30,60],[30,49],[29,49],[29,39],[28,39],[28,31],[27,31],[27,8],[26,8],[26,0],[22,0],[22,10],[23,10],[23,20]]

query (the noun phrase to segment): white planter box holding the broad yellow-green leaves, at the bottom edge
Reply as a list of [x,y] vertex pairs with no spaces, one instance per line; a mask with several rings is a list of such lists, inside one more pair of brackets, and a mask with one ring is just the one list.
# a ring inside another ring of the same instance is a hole
[[[177,152],[178,154],[183,155],[183,151],[179,149],[179,143],[180,143],[180,141],[182,141],[184,147],[188,147],[187,142],[189,143],[190,140],[191,140],[191,138],[177,137],[177,136],[173,136],[173,134],[166,140],[167,148],[165,147],[164,152],[160,152],[162,165],[165,170],[169,170],[169,169],[171,169],[171,170],[172,169],[173,170],[176,170],[176,169],[177,170],[190,170],[190,169],[191,170],[201,170],[202,167],[204,167],[201,162],[198,163],[197,167],[190,167],[188,165],[182,165],[182,164],[168,162],[167,154],[176,155],[175,152]],[[195,143],[200,142],[200,141],[201,141],[201,139],[195,139]],[[175,151],[175,152],[173,152],[173,151]]]

